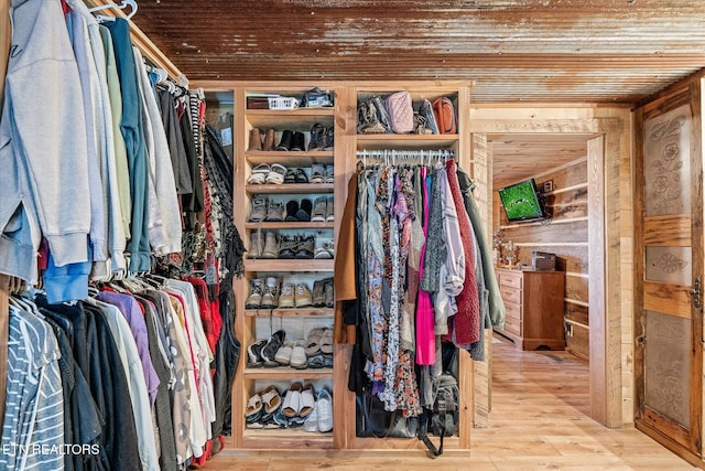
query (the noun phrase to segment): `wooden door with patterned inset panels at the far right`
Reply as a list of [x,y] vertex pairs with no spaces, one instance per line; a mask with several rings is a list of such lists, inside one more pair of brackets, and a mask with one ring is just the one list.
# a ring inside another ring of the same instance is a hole
[[703,407],[699,85],[636,118],[636,425],[695,461]]

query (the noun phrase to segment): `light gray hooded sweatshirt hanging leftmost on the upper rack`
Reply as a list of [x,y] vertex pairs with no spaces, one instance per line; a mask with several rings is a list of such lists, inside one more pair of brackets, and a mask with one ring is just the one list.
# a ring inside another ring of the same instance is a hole
[[36,282],[36,250],[88,260],[90,194],[78,68],[59,0],[13,0],[0,119],[0,272]]

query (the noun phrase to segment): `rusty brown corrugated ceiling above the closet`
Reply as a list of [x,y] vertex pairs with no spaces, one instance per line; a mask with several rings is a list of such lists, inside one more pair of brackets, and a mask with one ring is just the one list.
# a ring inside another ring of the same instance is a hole
[[474,79],[473,101],[633,103],[705,66],[702,0],[138,0],[191,81]]

